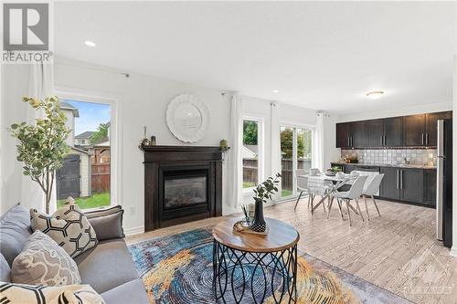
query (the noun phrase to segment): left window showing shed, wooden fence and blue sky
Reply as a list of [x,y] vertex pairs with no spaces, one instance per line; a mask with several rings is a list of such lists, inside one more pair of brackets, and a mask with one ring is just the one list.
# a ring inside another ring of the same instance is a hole
[[81,209],[111,204],[110,104],[60,100],[71,130],[69,152],[57,173],[58,206],[72,196]]

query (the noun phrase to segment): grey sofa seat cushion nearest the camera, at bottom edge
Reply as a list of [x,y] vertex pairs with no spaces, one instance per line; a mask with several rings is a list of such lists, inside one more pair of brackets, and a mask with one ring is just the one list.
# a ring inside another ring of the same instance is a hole
[[101,298],[106,301],[106,304],[149,304],[141,278],[103,292]]

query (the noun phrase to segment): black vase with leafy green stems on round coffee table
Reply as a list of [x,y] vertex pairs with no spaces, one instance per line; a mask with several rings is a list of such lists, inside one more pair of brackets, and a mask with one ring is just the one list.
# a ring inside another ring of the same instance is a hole
[[267,229],[267,223],[263,218],[263,204],[271,200],[273,194],[278,192],[278,183],[280,183],[281,174],[276,173],[274,179],[267,178],[263,183],[258,184],[254,189],[253,199],[255,201],[254,222],[250,229],[255,232],[264,232]]

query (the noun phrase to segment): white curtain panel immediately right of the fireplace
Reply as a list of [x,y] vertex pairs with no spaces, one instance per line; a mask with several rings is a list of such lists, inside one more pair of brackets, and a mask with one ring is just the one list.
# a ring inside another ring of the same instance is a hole
[[233,208],[238,208],[242,204],[243,185],[243,105],[238,94],[232,97],[230,107],[228,204]]

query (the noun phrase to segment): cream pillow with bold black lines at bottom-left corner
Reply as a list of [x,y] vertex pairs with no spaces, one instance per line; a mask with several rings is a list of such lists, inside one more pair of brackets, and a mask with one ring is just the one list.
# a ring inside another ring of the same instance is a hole
[[9,304],[106,304],[89,285],[59,287],[0,282],[1,303]]

